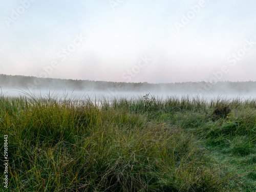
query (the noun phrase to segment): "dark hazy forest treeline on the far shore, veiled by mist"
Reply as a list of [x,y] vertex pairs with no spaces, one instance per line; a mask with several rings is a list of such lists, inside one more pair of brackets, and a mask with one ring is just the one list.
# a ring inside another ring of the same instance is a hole
[[92,80],[73,80],[55,78],[37,78],[33,76],[0,74],[0,87],[19,89],[72,89],[98,90],[109,92],[123,91],[163,91],[163,92],[229,92],[248,93],[256,91],[256,81],[220,81],[209,82],[175,82],[175,83],[147,83],[147,82],[108,82]]

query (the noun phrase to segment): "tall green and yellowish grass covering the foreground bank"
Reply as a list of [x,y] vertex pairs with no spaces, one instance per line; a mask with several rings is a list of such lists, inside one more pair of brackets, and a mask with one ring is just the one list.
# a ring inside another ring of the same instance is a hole
[[0,96],[0,175],[8,135],[6,191],[256,191],[255,112],[240,99]]

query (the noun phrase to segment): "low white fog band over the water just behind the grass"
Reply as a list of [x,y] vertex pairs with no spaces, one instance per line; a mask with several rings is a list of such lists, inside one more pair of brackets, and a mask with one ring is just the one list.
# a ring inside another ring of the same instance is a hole
[[13,89],[4,89],[1,90],[1,95],[3,96],[10,96],[10,97],[19,97],[19,96],[26,96],[26,97],[53,97],[58,99],[72,99],[72,100],[82,100],[90,98],[92,101],[99,101],[99,100],[112,100],[114,98],[126,98],[126,99],[138,99],[142,98],[144,95],[149,94],[149,97],[155,97],[158,99],[167,99],[168,97],[188,97],[190,99],[198,98],[198,99],[205,99],[205,100],[217,100],[217,99],[255,99],[256,93],[252,90],[246,93],[243,92],[234,92],[228,90],[226,92],[204,92],[199,93],[197,91],[194,92],[186,92],[185,90],[182,92],[175,92],[175,91],[128,91],[128,90],[121,90],[116,92],[110,91],[99,91],[99,90],[53,90],[53,89],[38,89],[38,90],[22,90],[18,88]]

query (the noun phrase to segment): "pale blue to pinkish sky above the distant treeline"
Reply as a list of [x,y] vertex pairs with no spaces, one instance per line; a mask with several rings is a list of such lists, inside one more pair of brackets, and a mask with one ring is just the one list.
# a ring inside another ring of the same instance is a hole
[[255,0],[0,3],[0,74],[256,81]]

